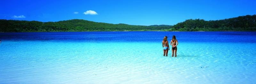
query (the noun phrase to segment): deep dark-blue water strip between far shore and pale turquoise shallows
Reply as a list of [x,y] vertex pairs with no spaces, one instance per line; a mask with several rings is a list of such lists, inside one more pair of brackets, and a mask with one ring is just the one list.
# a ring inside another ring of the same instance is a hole
[[159,42],[175,35],[180,42],[256,42],[256,32],[4,32],[2,40]]

